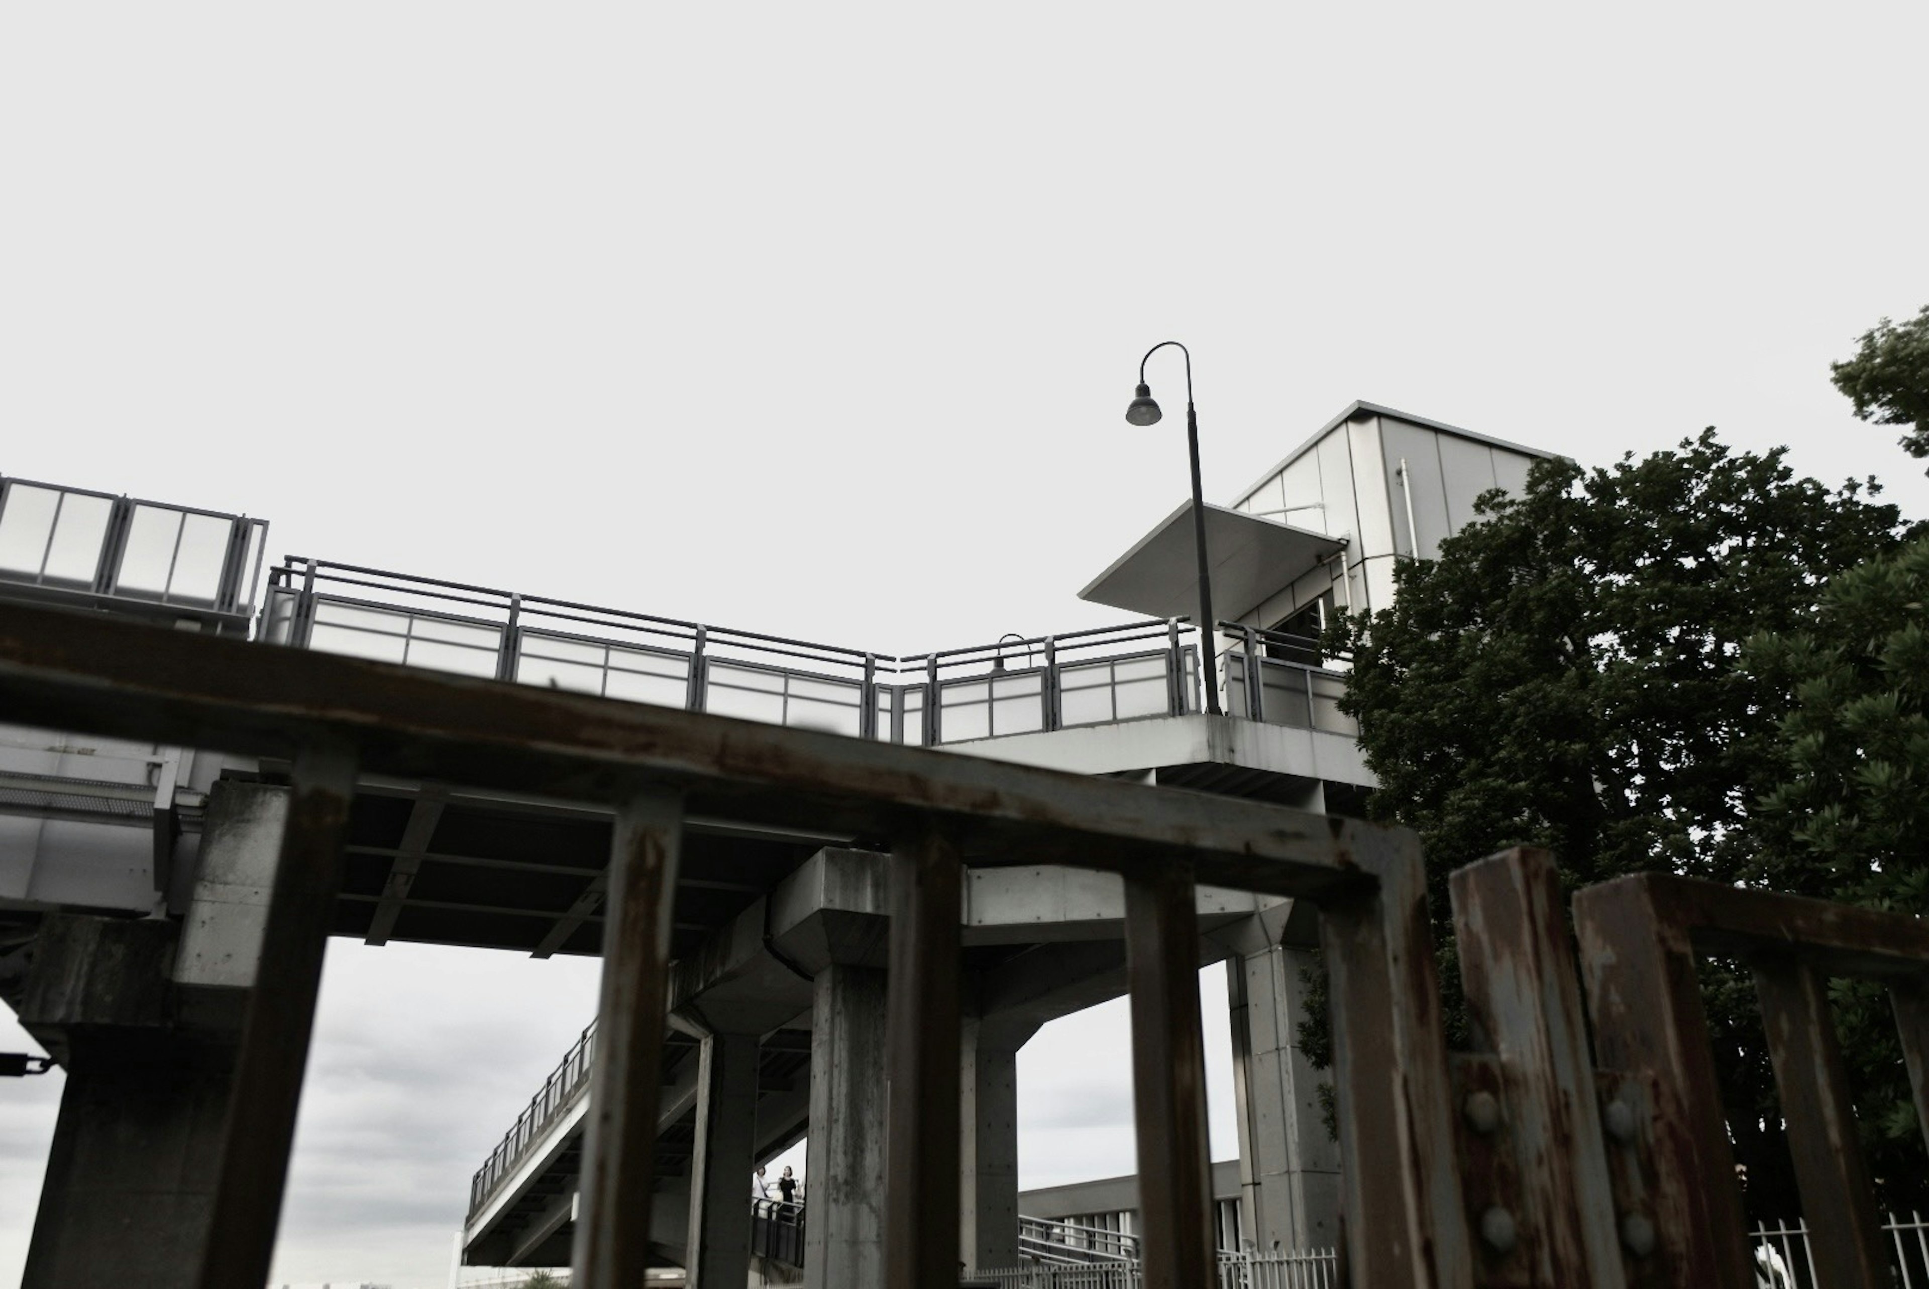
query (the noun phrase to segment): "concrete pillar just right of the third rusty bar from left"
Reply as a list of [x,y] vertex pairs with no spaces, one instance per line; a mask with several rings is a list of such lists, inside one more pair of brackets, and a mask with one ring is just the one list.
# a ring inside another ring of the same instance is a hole
[[1019,1048],[1036,1023],[964,1017],[959,1042],[959,1260],[1019,1266]]

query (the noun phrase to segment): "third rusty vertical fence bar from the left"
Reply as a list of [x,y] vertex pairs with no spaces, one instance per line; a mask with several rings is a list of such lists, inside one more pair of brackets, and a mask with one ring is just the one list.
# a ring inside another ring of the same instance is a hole
[[883,1283],[957,1283],[959,913],[964,870],[937,830],[891,849]]

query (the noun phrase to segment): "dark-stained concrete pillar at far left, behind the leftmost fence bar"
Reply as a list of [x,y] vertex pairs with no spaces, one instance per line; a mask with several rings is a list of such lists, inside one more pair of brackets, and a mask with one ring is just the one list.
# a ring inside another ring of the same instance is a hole
[[68,1084],[25,1289],[199,1283],[285,816],[285,787],[222,780],[179,924],[41,924],[19,1019]]

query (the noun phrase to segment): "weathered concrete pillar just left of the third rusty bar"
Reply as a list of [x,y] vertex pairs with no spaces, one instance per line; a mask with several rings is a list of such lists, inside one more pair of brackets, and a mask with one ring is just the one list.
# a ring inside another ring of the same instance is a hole
[[831,963],[812,984],[804,1285],[883,1289],[885,974]]

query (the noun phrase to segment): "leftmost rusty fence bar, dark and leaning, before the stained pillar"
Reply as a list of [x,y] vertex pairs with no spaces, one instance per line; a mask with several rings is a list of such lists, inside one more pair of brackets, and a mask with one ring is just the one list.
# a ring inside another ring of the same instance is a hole
[[314,1032],[314,996],[341,890],[341,836],[355,797],[355,754],[341,747],[303,749],[291,783],[260,963],[235,1056],[220,1181],[201,1262],[203,1289],[268,1283],[301,1077]]

